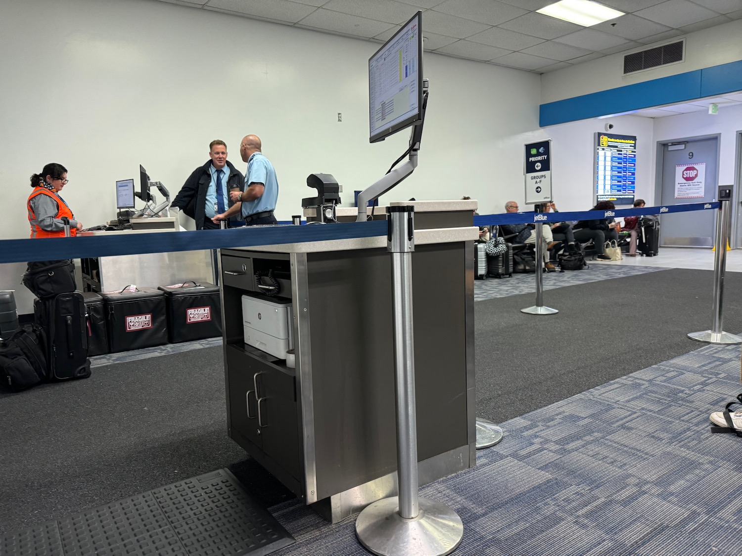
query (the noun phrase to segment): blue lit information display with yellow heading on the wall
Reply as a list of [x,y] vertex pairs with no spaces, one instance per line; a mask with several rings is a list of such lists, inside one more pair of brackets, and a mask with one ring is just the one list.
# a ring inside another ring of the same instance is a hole
[[632,205],[637,185],[637,138],[595,133],[595,191],[598,201]]

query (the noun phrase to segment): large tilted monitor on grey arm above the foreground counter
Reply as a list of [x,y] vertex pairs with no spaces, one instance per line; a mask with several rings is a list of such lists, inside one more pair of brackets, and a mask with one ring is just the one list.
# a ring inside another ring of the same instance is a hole
[[372,143],[422,119],[422,12],[418,11],[369,59]]

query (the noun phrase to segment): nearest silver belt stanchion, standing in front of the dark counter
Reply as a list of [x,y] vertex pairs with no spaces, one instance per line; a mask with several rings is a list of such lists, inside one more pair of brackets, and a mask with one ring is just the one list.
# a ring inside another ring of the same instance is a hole
[[387,251],[392,254],[394,371],[399,496],[367,506],[355,522],[358,540],[375,555],[433,556],[456,550],[462,520],[443,504],[418,498],[412,252],[414,207],[389,207]]

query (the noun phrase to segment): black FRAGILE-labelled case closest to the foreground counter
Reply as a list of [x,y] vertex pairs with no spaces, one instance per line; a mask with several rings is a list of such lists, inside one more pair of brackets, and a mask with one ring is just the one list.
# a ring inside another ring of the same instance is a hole
[[222,335],[219,286],[208,282],[161,285],[168,314],[171,343],[204,340]]

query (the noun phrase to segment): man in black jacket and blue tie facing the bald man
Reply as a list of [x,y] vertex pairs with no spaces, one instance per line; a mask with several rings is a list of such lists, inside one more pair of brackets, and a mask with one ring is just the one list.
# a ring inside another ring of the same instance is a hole
[[209,162],[196,168],[180,188],[170,208],[177,208],[196,221],[197,230],[216,230],[212,222],[234,203],[230,191],[243,191],[245,178],[231,162],[227,162],[227,145],[216,139],[209,145]]

